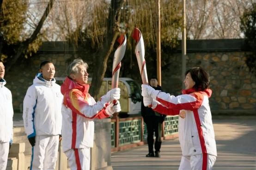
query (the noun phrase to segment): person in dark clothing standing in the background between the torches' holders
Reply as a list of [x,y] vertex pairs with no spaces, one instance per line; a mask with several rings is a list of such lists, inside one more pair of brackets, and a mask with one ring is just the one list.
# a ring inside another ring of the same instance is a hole
[[[161,86],[158,85],[158,80],[156,77],[152,77],[150,79],[150,86],[152,86],[155,90],[162,91]],[[143,101],[143,98],[142,98]],[[141,116],[146,123],[147,129],[147,145],[148,145],[148,154],[146,157],[160,157],[160,148],[161,148],[161,134],[162,134],[162,125],[165,120],[166,115],[159,114],[152,110],[152,108],[145,107],[143,102],[141,102]],[[154,139],[153,135],[155,132],[156,140],[155,140],[155,153],[153,150]]]

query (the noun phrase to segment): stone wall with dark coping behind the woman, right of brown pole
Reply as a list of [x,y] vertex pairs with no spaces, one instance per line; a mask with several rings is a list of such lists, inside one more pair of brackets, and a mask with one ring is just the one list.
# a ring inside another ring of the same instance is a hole
[[[245,63],[248,52],[241,51],[244,41],[207,41],[210,40],[188,42],[186,66],[187,69],[201,66],[210,74],[210,88],[213,90],[210,106],[213,114],[255,115],[256,77]],[[232,41],[235,43],[227,45],[227,42]],[[181,54],[164,58],[162,65],[170,63],[170,66],[162,70],[162,86],[166,91],[178,95],[181,86]]]

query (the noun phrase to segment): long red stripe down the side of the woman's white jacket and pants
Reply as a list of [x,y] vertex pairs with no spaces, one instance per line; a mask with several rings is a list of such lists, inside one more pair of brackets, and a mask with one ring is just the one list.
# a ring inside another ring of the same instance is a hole
[[201,144],[202,154],[203,154],[202,170],[207,170],[207,150],[206,150],[206,145],[205,145],[205,141],[204,141],[203,130],[201,127],[198,110],[194,110],[193,112],[194,112],[194,117],[195,117],[196,128],[198,131],[198,136],[199,136],[199,140],[200,140],[200,144]]

